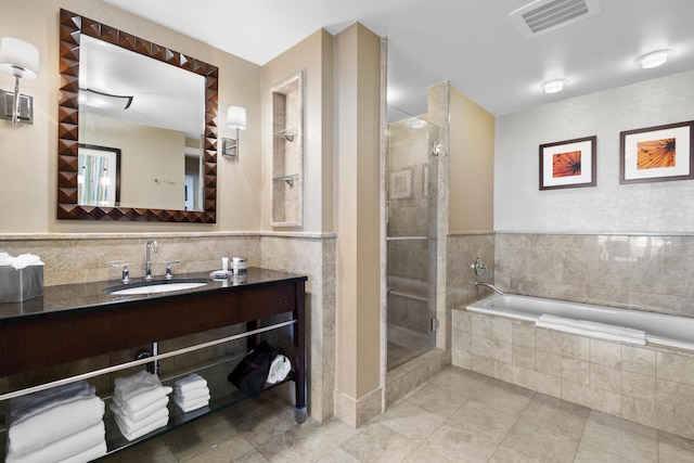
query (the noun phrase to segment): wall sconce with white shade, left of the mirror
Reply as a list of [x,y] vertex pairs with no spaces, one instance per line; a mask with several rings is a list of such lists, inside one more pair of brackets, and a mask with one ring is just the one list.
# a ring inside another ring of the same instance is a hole
[[0,39],[0,70],[14,76],[14,92],[0,90],[0,116],[12,125],[34,124],[34,98],[20,94],[20,78],[34,80],[39,76],[39,50],[24,40]]

